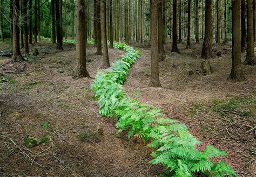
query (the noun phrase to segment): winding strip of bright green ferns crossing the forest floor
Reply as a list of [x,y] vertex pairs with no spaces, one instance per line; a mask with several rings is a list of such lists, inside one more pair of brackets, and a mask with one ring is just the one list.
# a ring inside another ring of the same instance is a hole
[[213,158],[226,152],[208,145],[203,152],[184,124],[164,118],[164,112],[151,104],[128,97],[122,87],[129,68],[140,53],[125,43],[115,43],[114,48],[126,53],[106,72],[98,72],[92,89],[99,103],[99,114],[115,117],[118,132],[128,130],[128,138],[140,137],[153,148],[151,164],[163,165],[168,176],[236,176],[224,161]]

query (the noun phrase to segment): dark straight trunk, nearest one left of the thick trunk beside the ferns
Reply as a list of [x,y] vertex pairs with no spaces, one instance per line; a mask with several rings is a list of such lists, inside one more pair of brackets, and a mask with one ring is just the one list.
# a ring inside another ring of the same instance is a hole
[[57,50],[63,50],[62,34],[60,27],[60,13],[59,13],[59,0],[55,0],[55,13],[56,13],[56,30],[57,30]]

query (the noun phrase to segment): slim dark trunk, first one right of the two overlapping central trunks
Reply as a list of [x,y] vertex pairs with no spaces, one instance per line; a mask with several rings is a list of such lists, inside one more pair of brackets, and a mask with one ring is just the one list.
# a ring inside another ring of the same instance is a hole
[[173,0],[172,52],[180,53],[177,44],[177,0]]

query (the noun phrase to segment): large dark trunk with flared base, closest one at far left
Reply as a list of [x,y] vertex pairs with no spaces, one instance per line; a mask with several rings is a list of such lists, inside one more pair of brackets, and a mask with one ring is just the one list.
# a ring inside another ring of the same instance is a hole
[[21,49],[19,48],[19,27],[18,27],[18,15],[19,15],[19,0],[13,0],[13,34],[12,34],[12,61],[18,62],[24,60],[21,55]]

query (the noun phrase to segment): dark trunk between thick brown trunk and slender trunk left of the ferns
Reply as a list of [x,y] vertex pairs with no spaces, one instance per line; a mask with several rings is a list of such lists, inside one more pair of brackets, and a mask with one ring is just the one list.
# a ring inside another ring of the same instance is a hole
[[101,27],[100,27],[100,0],[96,0],[96,45],[97,52],[96,55],[102,55],[102,35],[101,35]]

